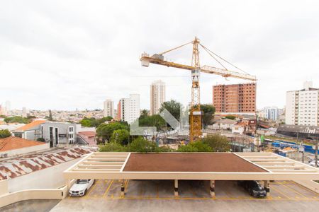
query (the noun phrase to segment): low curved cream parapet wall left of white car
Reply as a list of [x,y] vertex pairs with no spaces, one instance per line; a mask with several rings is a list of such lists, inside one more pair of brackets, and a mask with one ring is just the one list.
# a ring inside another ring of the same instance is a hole
[[[6,180],[1,181],[0,187],[5,187],[5,184]],[[60,189],[29,189],[13,193],[1,193],[0,208],[18,201],[28,199],[64,199],[67,196],[67,186]]]

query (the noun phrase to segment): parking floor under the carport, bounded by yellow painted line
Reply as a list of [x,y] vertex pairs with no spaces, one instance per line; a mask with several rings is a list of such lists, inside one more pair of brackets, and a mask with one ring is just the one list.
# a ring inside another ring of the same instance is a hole
[[[216,181],[216,197],[209,193],[209,182],[179,180],[179,196],[174,196],[172,180],[127,180],[125,195],[121,196],[121,182],[99,179],[86,196],[68,197],[79,199],[256,199],[247,194],[235,181]],[[311,200],[318,201],[319,195],[291,181],[276,181],[270,184],[267,200]]]

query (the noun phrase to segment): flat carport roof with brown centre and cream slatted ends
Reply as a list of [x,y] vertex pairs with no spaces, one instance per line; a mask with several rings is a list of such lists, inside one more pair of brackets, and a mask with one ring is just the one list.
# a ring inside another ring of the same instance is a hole
[[66,179],[319,180],[319,169],[274,153],[91,153]]

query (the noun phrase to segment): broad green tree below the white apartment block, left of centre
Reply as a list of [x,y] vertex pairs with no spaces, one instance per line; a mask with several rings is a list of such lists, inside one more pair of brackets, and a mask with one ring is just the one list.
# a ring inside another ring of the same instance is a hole
[[96,136],[102,140],[102,142],[110,141],[113,131],[117,129],[129,130],[128,126],[119,122],[111,122],[109,124],[101,124],[96,129]]

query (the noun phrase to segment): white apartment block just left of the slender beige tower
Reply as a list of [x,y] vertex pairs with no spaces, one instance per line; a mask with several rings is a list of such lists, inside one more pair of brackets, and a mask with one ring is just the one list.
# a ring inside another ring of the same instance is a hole
[[140,95],[130,94],[118,102],[118,120],[131,124],[140,117]]

